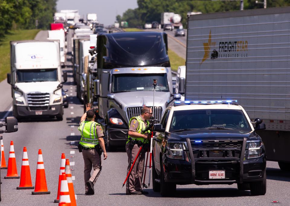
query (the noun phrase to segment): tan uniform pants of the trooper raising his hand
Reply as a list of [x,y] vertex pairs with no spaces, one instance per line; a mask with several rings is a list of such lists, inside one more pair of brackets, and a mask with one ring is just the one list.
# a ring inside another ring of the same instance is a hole
[[[102,170],[101,156],[96,149],[83,149],[82,156],[85,162],[85,182],[91,181],[95,185]],[[92,167],[94,168],[94,172],[91,176]],[[85,190],[88,191],[86,185]]]

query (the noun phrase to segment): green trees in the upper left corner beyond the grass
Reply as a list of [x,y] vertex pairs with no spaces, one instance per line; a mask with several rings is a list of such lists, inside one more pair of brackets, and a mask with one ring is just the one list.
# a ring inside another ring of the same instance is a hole
[[47,29],[57,0],[0,0],[0,37],[11,29]]

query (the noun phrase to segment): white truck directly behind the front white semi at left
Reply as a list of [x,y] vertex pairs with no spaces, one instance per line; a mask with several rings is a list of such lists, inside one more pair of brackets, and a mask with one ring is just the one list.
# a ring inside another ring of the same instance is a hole
[[65,46],[65,34],[64,30],[52,30],[48,31],[49,40],[60,40],[60,63],[62,67],[66,65],[66,46]]

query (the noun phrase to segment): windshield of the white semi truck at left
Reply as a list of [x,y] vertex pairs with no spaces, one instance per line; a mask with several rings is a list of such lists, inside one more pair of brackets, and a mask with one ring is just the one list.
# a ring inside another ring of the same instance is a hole
[[17,82],[57,81],[57,69],[21,69],[16,76]]

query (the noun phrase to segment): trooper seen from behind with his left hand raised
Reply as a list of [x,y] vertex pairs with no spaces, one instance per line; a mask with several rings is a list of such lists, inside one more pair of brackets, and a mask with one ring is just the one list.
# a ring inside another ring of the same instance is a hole
[[[104,160],[107,159],[107,152],[104,143],[104,133],[100,124],[95,122],[95,111],[91,109],[91,104],[86,105],[85,113],[81,117],[79,131],[81,132],[82,155],[85,163],[85,194],[94,195],[94,185],[102,170],[101,154]],[[87,121],[85,120],[87,118]],[[94,172],[91,175],[92,168]]]

